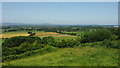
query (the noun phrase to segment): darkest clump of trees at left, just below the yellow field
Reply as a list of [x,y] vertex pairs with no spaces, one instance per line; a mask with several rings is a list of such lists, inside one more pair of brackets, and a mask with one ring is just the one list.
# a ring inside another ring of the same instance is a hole
[[18,36],[18,37],[12,37],[10,39],[6,39],[3,43],[3,47],[16,47],[19,46],[23,42],[29,42],[33,43],[35,41],[41,42],[41,39],[39,37],[30,37],[30,36]]

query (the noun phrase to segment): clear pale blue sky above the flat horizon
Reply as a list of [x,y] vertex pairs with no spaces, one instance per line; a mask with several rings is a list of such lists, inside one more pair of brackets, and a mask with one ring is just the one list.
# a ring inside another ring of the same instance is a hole
[[2,23],[118,24],[117,2],[3,2]]

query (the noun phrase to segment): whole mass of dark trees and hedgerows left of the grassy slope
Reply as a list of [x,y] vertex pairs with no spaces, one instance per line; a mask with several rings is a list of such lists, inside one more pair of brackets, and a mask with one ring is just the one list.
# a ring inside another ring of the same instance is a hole
[[[42,44],[42,42],[44,43]],[[45,37],[43,40],[33,36],[12,37],[5,40],[2,45],[3,61],[19,59],[36,52],[41,54],[52,52],[55,50],[55,47],[49,45],[54,42],[55,40],[51,36]]]

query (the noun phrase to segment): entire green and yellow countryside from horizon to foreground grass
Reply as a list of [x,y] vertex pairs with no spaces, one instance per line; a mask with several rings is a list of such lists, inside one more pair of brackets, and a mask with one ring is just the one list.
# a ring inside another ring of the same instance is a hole
[[0,34],[3,66],[118,66],[114,27],[9,27]]

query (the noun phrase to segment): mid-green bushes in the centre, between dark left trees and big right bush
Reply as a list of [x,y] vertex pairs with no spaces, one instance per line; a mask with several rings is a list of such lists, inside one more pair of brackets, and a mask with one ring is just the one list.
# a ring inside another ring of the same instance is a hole
[[65,48],[65,47],[74,47],[79,45],[79,41],[74,40],[62,40],[61,42],[56,42],[54,37],[48,36],[42,39],[42,44],[48,44],[50,46]]

